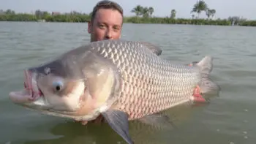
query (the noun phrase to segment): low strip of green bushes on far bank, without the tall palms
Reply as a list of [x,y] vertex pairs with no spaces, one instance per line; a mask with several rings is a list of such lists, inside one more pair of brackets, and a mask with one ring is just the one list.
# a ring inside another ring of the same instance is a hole
[[[16,22],[61,22],[61,23],[86,23],[90,20],[89,15],[48,15],[46,18],[37,18],[35,15],[15,14],[0,15],[0,21]],[[256,26],[256,20],[242,20],[233,23],[227,19],[185,19],[185,18],[141,18],[124,17],[124,23],[143,24],[186,24],[186,25],[211,25],[211,26]]]

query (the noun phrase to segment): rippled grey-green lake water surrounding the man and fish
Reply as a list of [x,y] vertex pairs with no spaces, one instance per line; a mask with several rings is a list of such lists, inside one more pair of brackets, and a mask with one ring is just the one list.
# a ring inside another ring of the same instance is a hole
[[[86,23],[0,23],[0,143],[125,143],[108,124],[83,126],[12,104],[23,69],[89,42]],[[135,143],[253,144],[256,141],[256,29],[231,26],[124,24],[123,39],[153,42],[162,57],[189,64],[214,56],[219,97],[209,105],[173,108],[176,129],[131,122]]]

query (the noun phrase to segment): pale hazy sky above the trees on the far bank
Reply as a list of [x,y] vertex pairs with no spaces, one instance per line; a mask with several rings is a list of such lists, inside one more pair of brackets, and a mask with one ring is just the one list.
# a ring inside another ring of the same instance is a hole
[[[15,10],[15,12],[77,12],[89,13],[99,0],[0,0],[0,10]],[[143,7],[153,7],[154,16],[170,16],[170,11],[176,10],[176,18],[192,18],[190,13],[197,0],[113,0],[124,9],[124,15],[134,15],[131,10],[140,4]],[[216,10],[215,18],[239,16],[256,20],[255,0],[205,0],[208,7]],[[200,18],[206,18],[205,12]]]

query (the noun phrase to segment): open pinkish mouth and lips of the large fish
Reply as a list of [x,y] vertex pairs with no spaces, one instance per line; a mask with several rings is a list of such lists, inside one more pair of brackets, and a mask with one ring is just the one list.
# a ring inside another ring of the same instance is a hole
[[37,74],[30,70],[24,70],[24,88],[21,91],[11,91],[10,99],[16,104],[34,102],[43,96],[42,91],[37,86]]

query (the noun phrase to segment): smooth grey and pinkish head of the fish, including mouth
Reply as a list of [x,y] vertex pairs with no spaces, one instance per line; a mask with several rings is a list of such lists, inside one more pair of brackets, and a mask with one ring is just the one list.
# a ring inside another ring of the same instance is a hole
[[10,99],[48,115],[93,120],[114,102],[115,75],[106,63],[91,53],[30,67],[24,70],[25,88],[10,92]]

